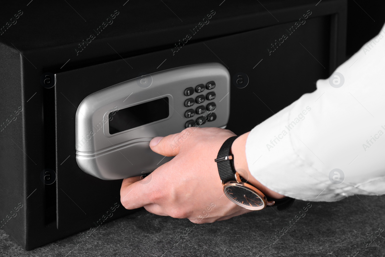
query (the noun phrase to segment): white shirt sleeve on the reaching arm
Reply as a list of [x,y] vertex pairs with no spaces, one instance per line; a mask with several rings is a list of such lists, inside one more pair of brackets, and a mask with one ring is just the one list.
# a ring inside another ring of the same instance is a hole
[[263,185],[300,200],[385,194],[385,26],[316,91],[251,130]]

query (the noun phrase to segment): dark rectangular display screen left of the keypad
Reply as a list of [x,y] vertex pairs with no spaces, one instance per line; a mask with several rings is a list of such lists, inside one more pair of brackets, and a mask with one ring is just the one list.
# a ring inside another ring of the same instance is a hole
[[110,134],[136,128],[169,116],[169,99],[163,97],[109,114]]

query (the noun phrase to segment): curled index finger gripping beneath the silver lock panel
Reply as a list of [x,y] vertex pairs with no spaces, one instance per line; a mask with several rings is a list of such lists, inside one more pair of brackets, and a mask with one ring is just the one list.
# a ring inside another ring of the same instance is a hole
[[151,204],[151,190],[149,185],[142,184],[140,176],[126,178],[121,187],[121,203],[124,208],[132,210]]

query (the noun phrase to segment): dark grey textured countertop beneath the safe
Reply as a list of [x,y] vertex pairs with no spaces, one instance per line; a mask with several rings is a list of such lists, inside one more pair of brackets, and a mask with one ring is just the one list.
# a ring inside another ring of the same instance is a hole
[[286,212],[267,208],[198,225],[142,209],[100,226],[79,246],[82,233],[28,252],[0,230],[0,256],[385,256],[385,231],[377,232],[385,229],[385,196],[358,197],[311,202],[301,213],[308,202],[296,200]]

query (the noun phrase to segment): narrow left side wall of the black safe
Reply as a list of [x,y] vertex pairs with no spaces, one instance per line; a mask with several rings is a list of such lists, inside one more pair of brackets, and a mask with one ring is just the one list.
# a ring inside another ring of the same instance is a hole
[[0,227],[24,246],[28,157],[23,153],[26,151],[26,104],[22,94],[21,66],[20,52],[0,43]]

